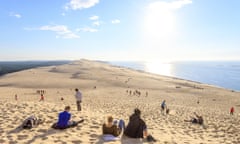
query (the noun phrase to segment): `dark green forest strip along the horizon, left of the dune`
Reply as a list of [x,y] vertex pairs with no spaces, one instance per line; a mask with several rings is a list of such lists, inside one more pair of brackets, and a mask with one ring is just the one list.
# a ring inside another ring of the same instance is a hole
[[0,76],[8,73],[18,72],[26,69],[68,64],[71,61],[59,60],[59,61],[0,61]]

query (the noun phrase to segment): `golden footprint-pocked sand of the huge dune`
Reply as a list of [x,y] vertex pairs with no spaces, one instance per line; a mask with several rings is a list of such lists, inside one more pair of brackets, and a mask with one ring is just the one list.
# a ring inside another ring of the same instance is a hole
[[[83,93],[81,112],[76,110],[75,88]],[[45,101],[39,101],[40,90],[45,92]],[[136,90],[141,94],[134,95]],[[161,113],[164,99],[169,115]],[[67,105],[71,106],[73,120],[85,121],[66,130],[52,129],[58,113]],[[234,115],[229,114],[232,106]],[[0,77],[0,143],[148,143],[126,136],[114,142],[102,139],[107,116],[128,123],[134,108],[142,111],[148,132],[159,144],[240,143],[239,92],[88,60]],[[194,112],[203,116],[204,126],[184,122]],[[45,121],[30,130],[19,128],[30,115]]]

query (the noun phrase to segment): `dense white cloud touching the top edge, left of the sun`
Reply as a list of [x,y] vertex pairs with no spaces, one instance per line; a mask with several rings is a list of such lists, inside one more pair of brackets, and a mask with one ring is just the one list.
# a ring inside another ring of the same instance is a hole
[[65,9],[80,10],[84,8],[90,8],[99,3],[99,0],[70,0],[66,4]]

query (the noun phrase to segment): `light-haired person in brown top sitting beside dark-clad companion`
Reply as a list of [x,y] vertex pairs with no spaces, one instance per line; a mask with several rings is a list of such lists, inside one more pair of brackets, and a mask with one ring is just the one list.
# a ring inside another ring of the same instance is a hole
[[103,134],[111,134],[115,137],[119,136],[124,129],[125,129],[124,121],[122,119],[119,120],[119,122],[117,120],[113,121],[112,116],[109,116],[107,119],[107,123],[104,123],[102,126]]

